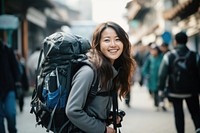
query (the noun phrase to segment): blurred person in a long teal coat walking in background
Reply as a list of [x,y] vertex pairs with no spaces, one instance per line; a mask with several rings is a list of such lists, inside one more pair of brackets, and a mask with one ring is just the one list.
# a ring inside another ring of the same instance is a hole
[[[159,97],[158,97],[158,70],[162,61],[162,54],[156,44],[152,44],[150,48],[150,55],[142,67],[142,74],[147,78],[147,88],[154,98],[154,106],[159,110]],[[165,108],[164,108],[165,109]]]

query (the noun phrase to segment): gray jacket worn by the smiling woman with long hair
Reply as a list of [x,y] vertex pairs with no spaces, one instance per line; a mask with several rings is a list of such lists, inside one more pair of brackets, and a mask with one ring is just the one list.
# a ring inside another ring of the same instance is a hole
[[[117,71],[113,68],[114,75]],[[66,114],[69,120],[86,133],[104,133],[106,120],[112,106],[112,97],[96,96],[84,111],[94,72],[89,66],[81,67],[72,79],[72,88],[69,94]],[[111,89],[112,81],[108,88]],[[100,89],[98,88],[98,91]],[[101,89],[102,90],[102,89]],[[104,90],[104,89],[103,89]]]

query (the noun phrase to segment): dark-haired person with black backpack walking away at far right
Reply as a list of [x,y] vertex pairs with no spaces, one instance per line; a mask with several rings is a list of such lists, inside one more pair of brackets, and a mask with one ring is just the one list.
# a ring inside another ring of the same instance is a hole
[[167,92],[174,108],[177,133],[185,131],[183,100],[186,101],[196,133],[200,133],[200,61],[199,55],[187,48],[187,40],[184,32],[175,35],[175,49],[164,55],[160,66],[158,89],[162,96],[168,77]]

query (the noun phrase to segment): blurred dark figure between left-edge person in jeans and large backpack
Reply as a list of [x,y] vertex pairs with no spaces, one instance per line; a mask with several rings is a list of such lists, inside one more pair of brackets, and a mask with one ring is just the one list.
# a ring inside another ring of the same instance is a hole
[[17,98],[19,101],[20,112],[22,112],[23,106],[24,106],[24,97],[25,97],[26,92],[28,92],[28,90],[29,90],[29,82],[28,82],[28,78],[27,78],[26,67],[21,60],[22,59],[21,54],[17,52],[16,58],[17,58],[18,65],[19,65],[20,82],[21,82],[21,89],[19,90],[20,92],[18,92]]

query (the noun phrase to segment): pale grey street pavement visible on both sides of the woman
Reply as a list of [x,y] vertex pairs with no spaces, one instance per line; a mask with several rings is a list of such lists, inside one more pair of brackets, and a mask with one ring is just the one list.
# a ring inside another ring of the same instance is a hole
[[[30,114],[31,97],[26,97],[24,112],[20,113],[17,106],[17,128],[19,133],[44,133],[45,128],[35,126],[35,116]],[[156,111],[153,100],[144,87],[137,84],[131,91],[131,108],[124,101],[119,102],[120,109],[126,112],[122,122],[122,133],[176,133],[173,110],[168,105],[168,111]],[[194,133],[194,126],[188,110],[185,108],[185,133]]]

